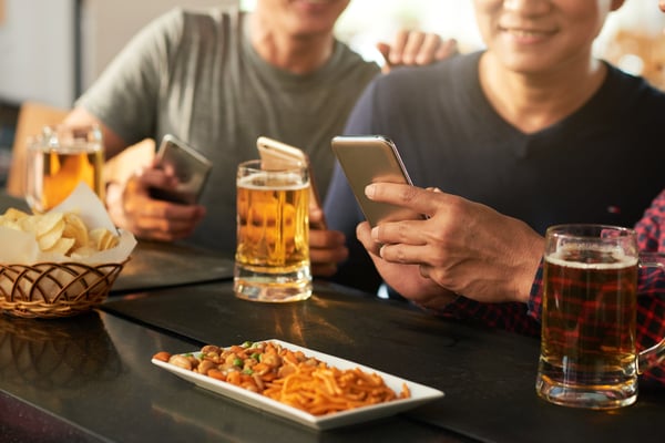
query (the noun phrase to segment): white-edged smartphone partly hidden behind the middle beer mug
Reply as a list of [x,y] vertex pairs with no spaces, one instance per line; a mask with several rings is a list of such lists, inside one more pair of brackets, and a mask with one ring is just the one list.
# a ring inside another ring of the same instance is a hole
[[[268,167],[288,167],[294,164],[306,165],[309,171],[309,206],[321,208],[321,199],[314,181],[309,157],[303,150],[265,136],[256,140],[256,147],[260,159]],[[317,229],[326,229],[326,220],[324,218],[320,223],[311,224],[311,226]]]

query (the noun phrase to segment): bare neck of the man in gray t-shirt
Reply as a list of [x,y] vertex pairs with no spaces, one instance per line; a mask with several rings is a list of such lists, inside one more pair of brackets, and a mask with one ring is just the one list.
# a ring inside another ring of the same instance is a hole
[[289,34],[270,27],[257,13],[250,16],[249,40],[266,62],[294,74],[307,74],[323,66],[332,55],[335,42],[331,32]]

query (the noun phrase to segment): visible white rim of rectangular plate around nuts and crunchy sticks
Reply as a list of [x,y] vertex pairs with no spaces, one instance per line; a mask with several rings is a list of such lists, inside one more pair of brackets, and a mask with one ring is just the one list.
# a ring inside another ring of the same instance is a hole
[[[439,399],[443,396],[443,392],[426,387],[423,384],[415,383],[412,381],[400,379],[399,377],[390,375],[388,373],[377,371],[376,369],[365,367],[362,364],[355,363],[349,360],[338,359],[337,357],[328,356],[326,353],[313,351],[307,348],[303,348],[296,344],[287,343],[280,340],[264,340],[272,341],[286,349],[293,351],[303,351],[307,357],[314,357],[331,367],[338,369],[354,369],[359,368],[368,373],[377,373],[383,378],[386,384],[395,392],[399,393],[402,390],[402,383],[406,383],[411,391],[409,399],[399,399],[386,403],[372,404],[369,406],[357,408],[348,411],[336,412],[327,415],[311,415],[299,409],[289,406],[280,403],[268,396],[247,391],[246,389],[236,387],[234,384],[215,380],[211,377],[200,374],[197,372],[188,371],[186,369],[178,368],[176,365],[163,362],[161,360],[153,359],[152,362],[160,368],[173,372],[174,374],[182,377],[183,379],[195,383],[196,385],[228,396],[231,399],[241,401],[254,408],[258,408],[263,411],[274,413],[288,420],[293,420],[300,424],[317,430],[327,430],[332,427],[346,426],[359,422],[369,420],[380,419],[389,415],[397,414],[399,412],[416,408],[426,402]],[[197,352],[192,352],[196,354]]]

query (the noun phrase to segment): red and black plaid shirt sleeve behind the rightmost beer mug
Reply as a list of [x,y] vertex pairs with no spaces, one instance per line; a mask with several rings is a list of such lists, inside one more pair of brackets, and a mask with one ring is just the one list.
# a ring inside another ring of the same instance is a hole
[[[635,226],[640,248],[647,253],[665,254],[665,190],[644,213]],[[665,269],[641,268],[637,291],[637,348],[652,347],[665,337]],[[529,303],[481,303],[466,297],[438,312],[449,318],[478,321],[509,331],[540,337],[543,293],[543,264],[541,261],[529,298]],[[643,379],[665,385],[665,363],[644,373]]]

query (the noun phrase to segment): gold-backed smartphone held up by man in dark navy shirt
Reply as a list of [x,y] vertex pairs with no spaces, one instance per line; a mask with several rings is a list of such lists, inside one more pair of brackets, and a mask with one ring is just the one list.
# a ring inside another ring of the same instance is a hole
[[371,226],[388,220],[421,218],[411,210],[372,202],[365,195],[365,187],[371,183],[412,185],[392,141],[381,135],[336,136],[331,145],[356,200]]

